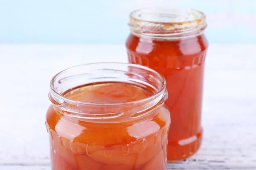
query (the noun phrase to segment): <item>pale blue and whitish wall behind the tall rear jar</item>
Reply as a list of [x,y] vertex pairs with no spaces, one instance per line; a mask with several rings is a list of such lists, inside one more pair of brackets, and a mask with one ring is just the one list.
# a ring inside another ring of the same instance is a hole
[[0,0],[0,43],[124,43],[129,12],[149,6],[204,11],[210,42],[256,42],[254,0]]

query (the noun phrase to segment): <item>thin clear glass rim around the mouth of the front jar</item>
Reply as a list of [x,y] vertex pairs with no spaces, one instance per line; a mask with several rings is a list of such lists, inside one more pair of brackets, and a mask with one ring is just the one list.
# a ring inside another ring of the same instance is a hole
[[[152,94],[151,96],[148,96],[144,99],[140,99],[140,100],[137,100],[137,101],[133,101],[133,102],[123,102],[123,103],[93,103],[93,102],[83,102],[83,101],[78,101],[78,100],[74,100],[74,99],[70,99],[68,97],[65,97],[63,94],[59,93],[56,88],[55,88],[55,81],[57,79],[58,76],[60,76],[61,74],[63,74],[64,72],[67,72],[67,71],[71,71],[72,69],[75,69],[77,67],[81,67],[81,66],[92,66],[92,65],[104,65],[104,64],[111,64],[111,65],[123,65],[124,67],[125,66],[129,66],[129,67],[134,67],[134,68],[140,68],[142,70],[145,70],[145,71],[150,71],[152,72],[153,74],[157,75],[157,77],[160,78],[162,85],[161,85],[161,88],[159,90],[157,90],[156,93]],[[52,94],[55,95],[55,96],[58,96],[58,99],[59,100],[62,100],[64,102],[70,102],[70,103],[76,103],[76,104],[81,104],[81,105],[97,105],[97,106],[118,106],[118,105],[131,105],[131,104],[135,104],[135,103],[140,103],[140,102],[146,102],[148,100],[154,100],[155,98],[157,98],[158,96],[160,96],[161,94],[165,94],[166,93],[166,80],[165,78],[159,74],[157,71],[154,71],[153,69],[151,68],[148,68],[148,67],[145,67],[145,66],[142,66],[142,65],[136,65],[136,64],[129,64],[129,63],[122,63],[122,62],[94,62],[94,63],[87,63],[87,64],[81,64],[81,65],[76,65],[76,66],[73,66],[73,67],[70,67],[70,68],[67,68],[61,72],[59,72],[58,74],[56,74],[50,81],[50,94],[49,96],[51,96]],[[59,102],[57,102],[59,103]]]

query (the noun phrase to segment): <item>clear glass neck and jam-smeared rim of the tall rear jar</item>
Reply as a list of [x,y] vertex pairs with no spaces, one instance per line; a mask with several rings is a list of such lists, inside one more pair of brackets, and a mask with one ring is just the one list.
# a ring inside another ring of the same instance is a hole
[[145,8],[133,11],[128,23],[131,33],[152,39],[183,39],[203,34],[205,15],[193,9]]

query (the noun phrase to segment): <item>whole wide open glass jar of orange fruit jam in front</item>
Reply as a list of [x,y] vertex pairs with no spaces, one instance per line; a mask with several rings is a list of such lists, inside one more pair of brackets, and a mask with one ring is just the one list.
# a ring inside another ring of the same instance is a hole
[[51,81],[52,170],[166,170],[165,79],[133,64],[93,63]]

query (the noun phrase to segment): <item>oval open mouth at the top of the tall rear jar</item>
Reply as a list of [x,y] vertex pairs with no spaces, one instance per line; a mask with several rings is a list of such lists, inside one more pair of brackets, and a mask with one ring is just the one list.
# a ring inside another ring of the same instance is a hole
[[206,16],[203,12],[191,8],[141,8],[131,12],[129,17],[148,23],[179,24],[202,20]]

